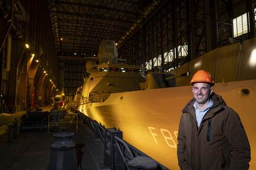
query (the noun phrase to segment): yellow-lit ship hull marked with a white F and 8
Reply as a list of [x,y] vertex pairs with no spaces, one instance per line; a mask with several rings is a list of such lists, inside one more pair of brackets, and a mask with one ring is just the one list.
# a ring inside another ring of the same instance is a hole
[[[256,169],[256,80],[216,83],[213,91],[241,117],[251,147],[250,169]],[[112,93],[104,102],[88,103],[79,109],[106,128],[119,128],[125,141],[171,170],[178,170],[178,125],[181,110],[191,98],[191,86],[159,88]]]

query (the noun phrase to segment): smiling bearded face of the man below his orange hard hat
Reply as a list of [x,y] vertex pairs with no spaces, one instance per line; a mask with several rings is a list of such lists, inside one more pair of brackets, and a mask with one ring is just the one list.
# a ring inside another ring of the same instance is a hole
[[207,83],[194,83],[192,93],[198,104],[205,104],[210,100],[212,87]]

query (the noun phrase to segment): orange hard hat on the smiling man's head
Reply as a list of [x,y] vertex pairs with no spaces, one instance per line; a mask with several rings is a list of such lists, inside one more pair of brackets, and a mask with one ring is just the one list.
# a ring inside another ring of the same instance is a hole
[[190,81],[191,84],[199,83],[199,82],[214,84],[214,81],[212,79],[212,76],[210,75],[210,72],[205,71],[205,70],[197,71],[193,75],[193,77]]

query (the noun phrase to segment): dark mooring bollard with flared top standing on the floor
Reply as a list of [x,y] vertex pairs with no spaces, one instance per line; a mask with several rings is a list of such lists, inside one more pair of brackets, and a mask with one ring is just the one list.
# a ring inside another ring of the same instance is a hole
[[75,143],[73,133],[56,133],[56,141],[51,146],[49,170],[77,169]]

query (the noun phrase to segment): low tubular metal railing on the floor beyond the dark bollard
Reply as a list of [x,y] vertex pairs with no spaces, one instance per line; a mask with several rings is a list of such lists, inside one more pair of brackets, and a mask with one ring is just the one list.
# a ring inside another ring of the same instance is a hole
[[[65,118],[72,117],[72,120],[65,121]],[[48,133],[50,132],[51,125],[60,126],[60,124],[76,124],[76,131],[78,131],[78,114],[49,114],[48,116]]]

